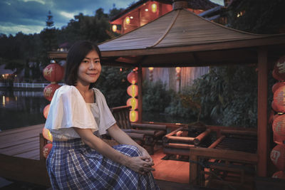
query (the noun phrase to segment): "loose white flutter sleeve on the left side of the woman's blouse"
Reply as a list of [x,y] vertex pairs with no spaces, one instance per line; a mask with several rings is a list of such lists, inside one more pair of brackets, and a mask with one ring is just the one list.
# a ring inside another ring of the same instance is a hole
[[[70,85],[63,85],[54,93],[45,127],[51,131],[71,127],[98,130],[92,112],[88,110],[83,97],[76,87]],[[68,136],[79,137],[77,133]]]

